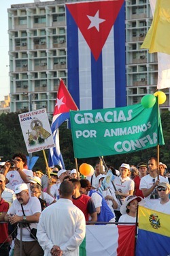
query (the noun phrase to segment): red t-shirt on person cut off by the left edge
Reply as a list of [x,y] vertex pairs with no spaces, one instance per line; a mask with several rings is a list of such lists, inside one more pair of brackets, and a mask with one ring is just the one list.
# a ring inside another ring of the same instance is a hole
[[[5,202],[3,199],[1,199],[0,201],[0,214],[2,214],[3,212],[7,212],[9,209],[9,203]],[[7,223],[1,223],[0,224],[0,244],[2,244],[3,242],[9,242],[10,239],[8,237],[8,229],[7,229]],[[7,240],[6,240],[7,239]]]

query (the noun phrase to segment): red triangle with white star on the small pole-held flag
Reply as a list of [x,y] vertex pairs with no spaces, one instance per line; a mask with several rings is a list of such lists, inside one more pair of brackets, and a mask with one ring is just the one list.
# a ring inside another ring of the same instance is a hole
[[78,106],[76,106],[73,98],[71,97],[71,94],[69,93],[67,87],[61,79],[60,85],[58,87],[53,116],[69,112],[70,110],[76,111],[78,110]]

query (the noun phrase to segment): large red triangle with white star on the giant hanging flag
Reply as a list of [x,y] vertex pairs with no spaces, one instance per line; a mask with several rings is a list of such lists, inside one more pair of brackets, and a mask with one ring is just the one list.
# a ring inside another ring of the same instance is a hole
[[66,4],[96,61],[123,3],[109,0]]

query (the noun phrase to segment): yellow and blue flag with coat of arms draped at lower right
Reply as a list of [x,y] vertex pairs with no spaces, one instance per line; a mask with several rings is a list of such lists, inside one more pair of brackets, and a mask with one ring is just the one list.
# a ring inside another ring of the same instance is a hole
[[139,206],[136,256],[170,255],[170,215]]

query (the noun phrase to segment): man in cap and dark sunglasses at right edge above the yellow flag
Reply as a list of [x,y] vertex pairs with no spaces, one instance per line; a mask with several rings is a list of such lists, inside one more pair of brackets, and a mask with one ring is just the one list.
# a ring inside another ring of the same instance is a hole
[[152,205],[152,209],[158,212],[163,212],[165,214],[170,214],[169,183],[160,182],[158,184],[157,190],[160,201],[157,201],[154,205]]

